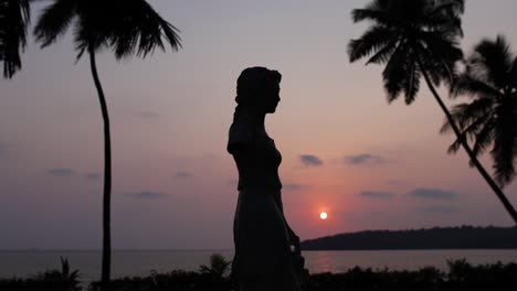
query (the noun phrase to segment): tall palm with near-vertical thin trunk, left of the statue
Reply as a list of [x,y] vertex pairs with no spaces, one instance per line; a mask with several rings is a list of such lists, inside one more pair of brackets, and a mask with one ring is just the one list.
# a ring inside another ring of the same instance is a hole
[[102,285],[107,288],[110,268],[110,191],[112,149],[109,117],[101,85],[95,54],[112,48],[117,60],[131,55],[146,57],[165,41],[172,50],[181,47],[178,30],[163,20],[145,0],[54,0],[38,20],[34,34],[42,47],[62,36],[73,23],[77,61],[89,55],[92,76],[97,89],[104,120],[104,193],[103,193],[103,270]]

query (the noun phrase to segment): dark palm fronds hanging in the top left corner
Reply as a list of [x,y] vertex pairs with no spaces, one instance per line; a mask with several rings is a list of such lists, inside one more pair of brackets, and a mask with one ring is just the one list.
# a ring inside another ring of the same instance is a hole
[[29,0],[0,0],[0,62],[3,62],[3,78],[12,78],[21,69],[20,53],[27,46],[30,17]]

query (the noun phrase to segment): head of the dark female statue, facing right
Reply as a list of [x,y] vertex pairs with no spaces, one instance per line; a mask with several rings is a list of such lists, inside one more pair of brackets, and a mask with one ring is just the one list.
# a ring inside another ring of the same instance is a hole
[[238,78],[239,106],[272,114],[279,101],[282,75],[265,67],[249,67]]

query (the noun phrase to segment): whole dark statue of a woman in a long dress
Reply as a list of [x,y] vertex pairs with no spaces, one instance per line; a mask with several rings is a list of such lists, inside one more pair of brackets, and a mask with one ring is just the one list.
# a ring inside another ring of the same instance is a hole
[[239,291],[298,291],[305,274],[299,238],[283,212],[278,177],[282,155],[267,136],[266,114],[276,110],[282,75],[249,67],[238,79],[238,106],[228,152],[239,171],[239,201],[233,224],[232,280]]

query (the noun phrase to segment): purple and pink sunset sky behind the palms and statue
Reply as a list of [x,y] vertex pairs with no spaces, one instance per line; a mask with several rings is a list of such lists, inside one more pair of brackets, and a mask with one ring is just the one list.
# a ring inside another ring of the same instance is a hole
[[[425,87],[412,106],[388,106],[382,67],[348,63],[347,43],[366,28],[350,11],[368,1],[149,2],[181,30],[183,50],[98,56],[113,125],[114,248],[232,248],[236,170],[225,143],[236,77],[255,65],[283,74],[266,122],[302,239],[511,225],[465,154],[446,154],[453,137],[439,134],[444,117]],[[466,2],[467,53],[497,33],[517,47],[516,1]],[[31,37],[23,71],[0,80],[0,249],[101,247],[102,119],[87,60],[74,60],[70,33],[43,51]],[[505,192],[517,205],[516,183]]]

